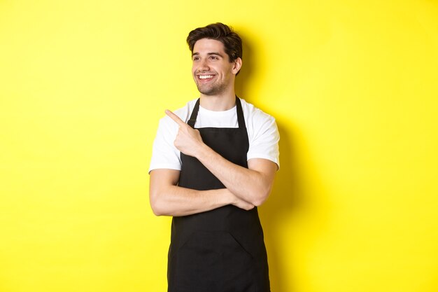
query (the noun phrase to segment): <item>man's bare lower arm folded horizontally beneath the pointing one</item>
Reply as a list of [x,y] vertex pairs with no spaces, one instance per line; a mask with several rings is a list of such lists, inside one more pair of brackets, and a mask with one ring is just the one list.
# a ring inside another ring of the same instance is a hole
[[192,190],[176,186],[180,171],[154,169],[150,172],[150,206],[157,216],[185,216],[210,211],[227,204],[250,210],[254,205],[236,197],[226,188]]

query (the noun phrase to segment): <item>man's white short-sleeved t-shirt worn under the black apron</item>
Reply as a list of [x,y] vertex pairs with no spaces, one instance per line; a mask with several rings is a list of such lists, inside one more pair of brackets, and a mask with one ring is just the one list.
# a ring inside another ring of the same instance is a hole
[[[275,162],[279,167],[278,140],[280,135],[278,134],[275,119],[257,109],[253,104],[245,102],[244,99],[240,100],[249,140],[246,159],[264,158]],[[196,101],[197,99],[191,100],[183,108],[174,111],[174,113],[187,123]],[[239,127],[236,106],[227,111],[209,111],[199,106],[195,128],[201,127]],[[153,169],[181,170],[180,151],[174,146],[178,129],[178,124],[169,116],[164,116],[160,120],[157,136],[153,143],[149,172]]]

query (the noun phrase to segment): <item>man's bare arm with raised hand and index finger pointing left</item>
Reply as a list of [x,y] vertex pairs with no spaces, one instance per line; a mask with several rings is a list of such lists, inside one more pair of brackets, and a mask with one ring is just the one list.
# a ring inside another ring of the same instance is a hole
[[171,111],[167,115],[179,125],[175,146],[185,155],[197,158],[236,197],[260,206],[271,192],[277,165],[270,160],[253,158],[248,168],[235,165],[222,158],[204,144],[198,130],[193,129]]

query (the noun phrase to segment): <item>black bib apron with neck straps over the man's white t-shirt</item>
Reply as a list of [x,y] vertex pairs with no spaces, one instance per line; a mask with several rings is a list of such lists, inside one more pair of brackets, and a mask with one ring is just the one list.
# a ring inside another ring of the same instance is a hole
[[[199,99],[188,121],[195,127]],[[236,97],[239,128],[199,128],[202,140],[223,158],[248,168],[248,132]],[[225,188],[197,158],[181,153],[178,186],[195,190]],[[257,208],[227,205],[172,220],[169,292],[269,292],[267,253]]]

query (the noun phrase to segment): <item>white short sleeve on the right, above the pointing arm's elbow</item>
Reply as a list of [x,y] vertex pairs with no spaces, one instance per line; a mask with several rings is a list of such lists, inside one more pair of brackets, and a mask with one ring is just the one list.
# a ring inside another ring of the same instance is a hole
[[280,167],[278,141],[280,134],[274,117],[260,111],[253,120],[253,134],[251,135],[247,159],[264,158],[276,163]]

